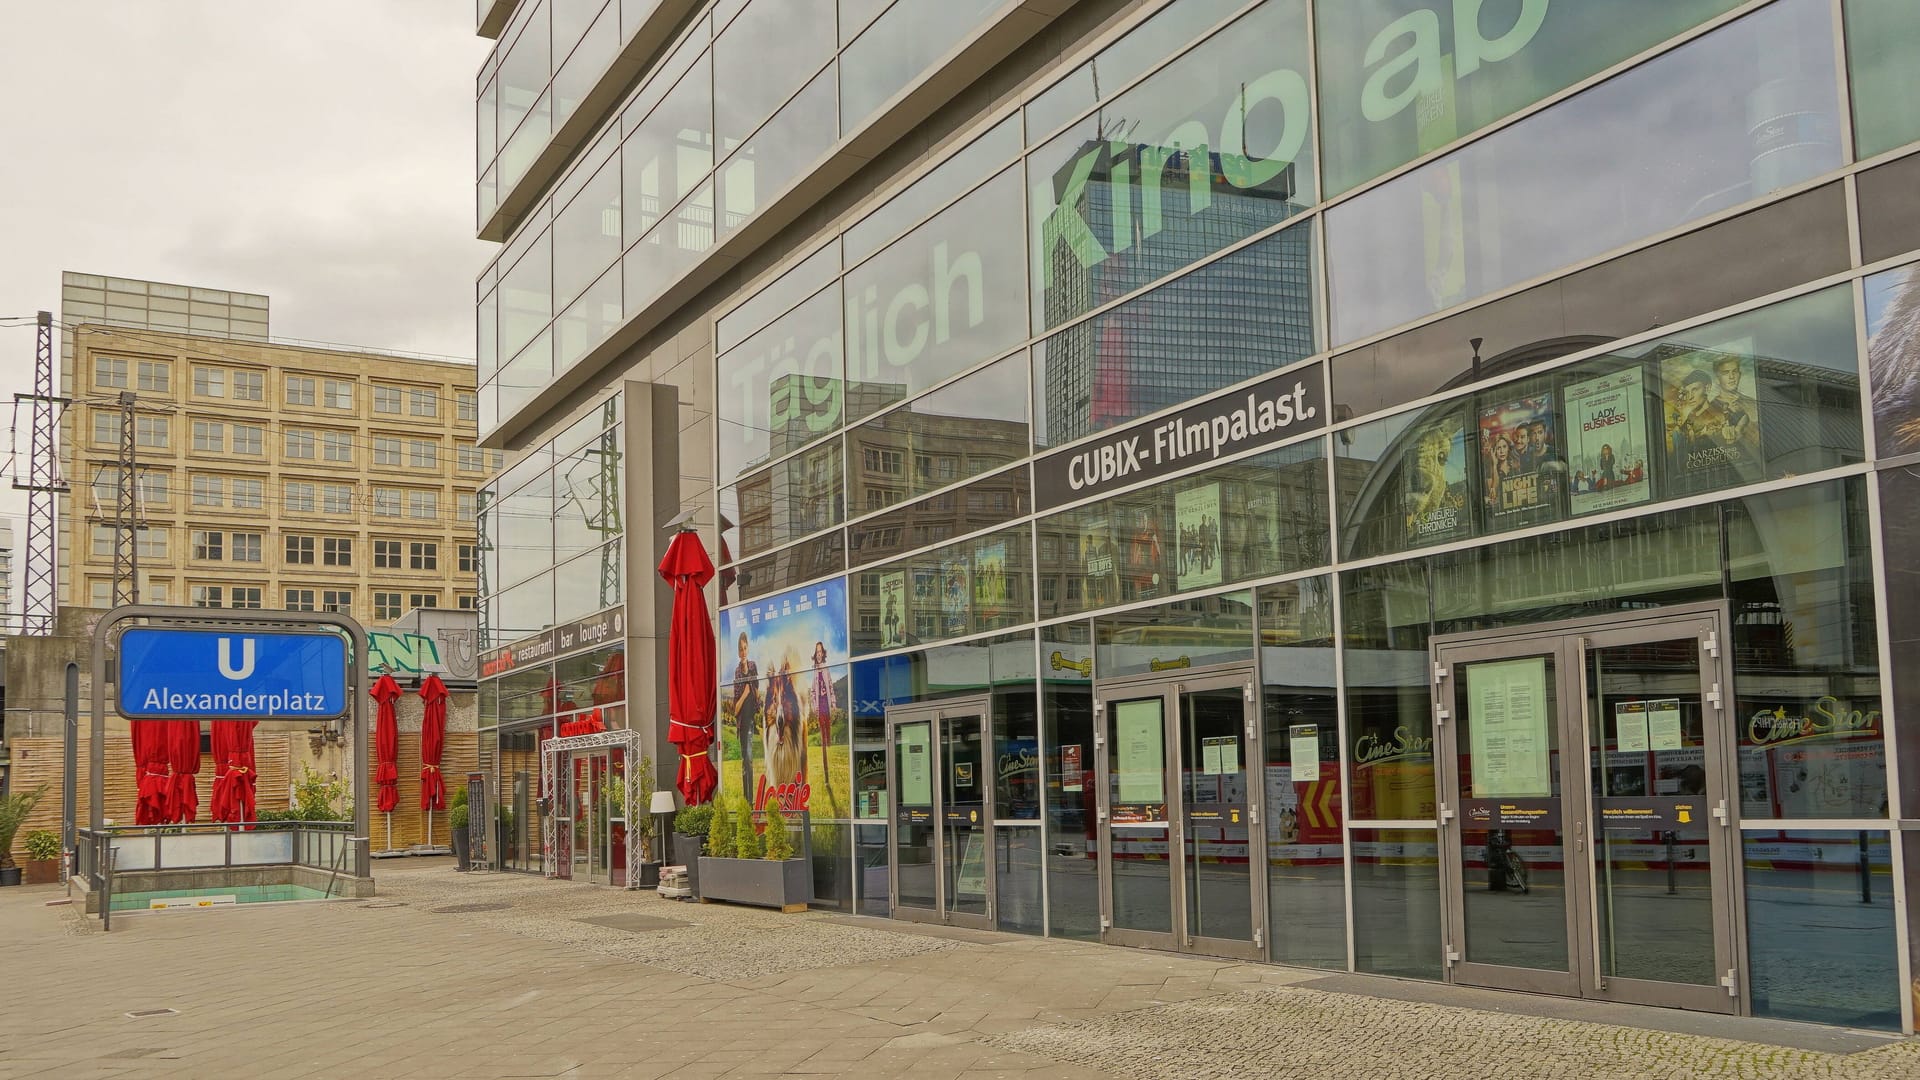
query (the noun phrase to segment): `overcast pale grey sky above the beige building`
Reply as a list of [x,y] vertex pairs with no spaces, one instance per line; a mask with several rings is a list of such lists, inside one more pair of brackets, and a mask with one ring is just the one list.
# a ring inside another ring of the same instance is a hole
[[[265,292],[275,336],[472,357],[490,44],[472,0],[0,0],[0,317],[58,319],[83,271]],[[33,331],[0,329],[0,402],[31,390]]]

